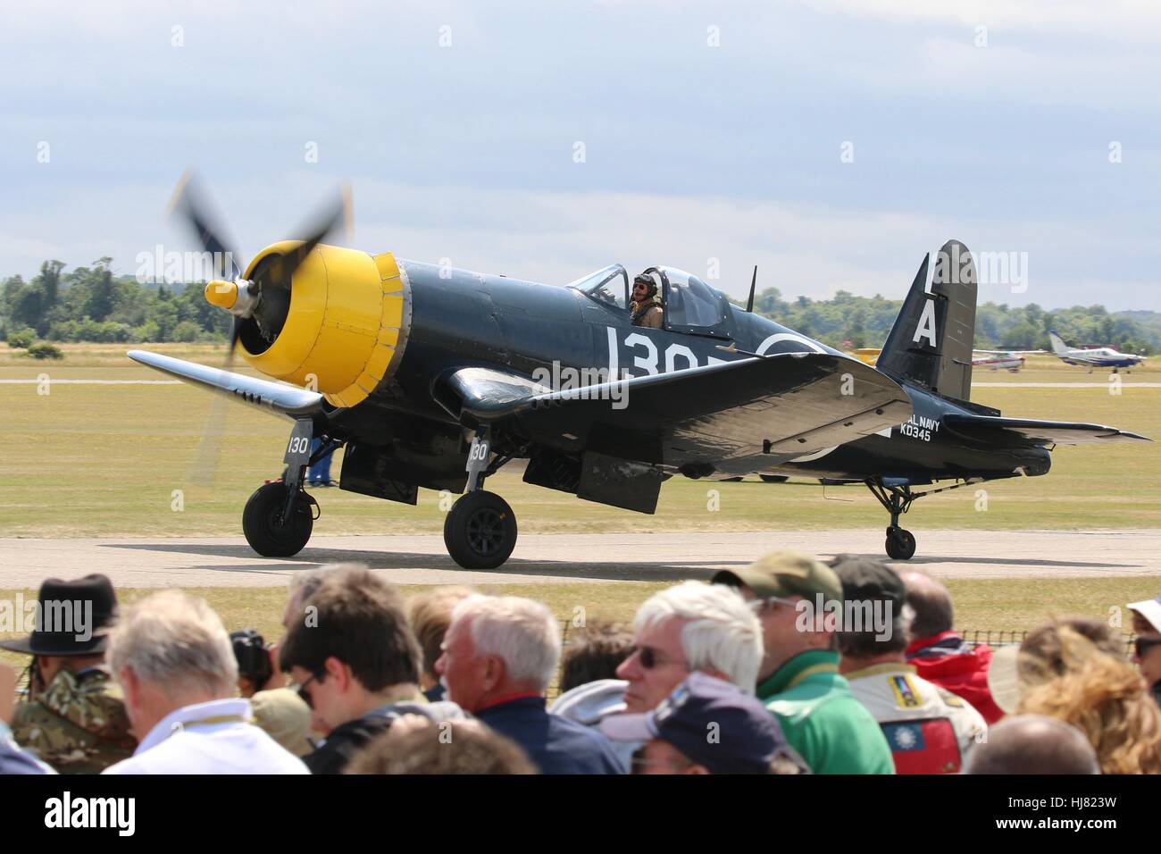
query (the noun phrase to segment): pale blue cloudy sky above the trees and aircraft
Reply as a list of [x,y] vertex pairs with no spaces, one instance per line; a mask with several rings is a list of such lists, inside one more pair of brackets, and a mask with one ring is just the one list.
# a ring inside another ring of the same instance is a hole
[[7,3],[0,277],[195,249],[194,167],[244,258],[346,180],[347,245],[535,281],[900,299],[957,238],[1161,310],[1159,79],[1146,0]]

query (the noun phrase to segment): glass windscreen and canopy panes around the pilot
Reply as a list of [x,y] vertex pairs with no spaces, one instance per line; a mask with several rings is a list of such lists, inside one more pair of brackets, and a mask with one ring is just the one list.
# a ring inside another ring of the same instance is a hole
[[[676,267],[649,267],[646,273],[661,277],[661,300],[665,329],[728,337],[723,325],[729,317],[729,301],[720,290]],[[568,285],[604,304],[628,310],[629,275],[620,264],[611,264]]]

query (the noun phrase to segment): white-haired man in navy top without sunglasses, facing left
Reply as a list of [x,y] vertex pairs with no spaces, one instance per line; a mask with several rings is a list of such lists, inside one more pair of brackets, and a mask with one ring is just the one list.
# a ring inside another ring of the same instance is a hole
[[469,596],[452,611],[442,648],[435,672],[448,697],[515,741],[541,774],[627,770],[599,732],[545,709],[561,655],[561,632],[546,605]]

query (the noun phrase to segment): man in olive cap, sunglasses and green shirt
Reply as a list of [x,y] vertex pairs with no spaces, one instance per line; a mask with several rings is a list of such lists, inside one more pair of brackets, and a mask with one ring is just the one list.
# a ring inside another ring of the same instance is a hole
[[835,631],[823,617],[841,608],[835,572],[796,552],[773,552],[745,569],[722,570],[715,584],[741,590],[762,622],[765,654],[758,698],[791,747],[815,774],[894,774],[878,722],[838,673]]

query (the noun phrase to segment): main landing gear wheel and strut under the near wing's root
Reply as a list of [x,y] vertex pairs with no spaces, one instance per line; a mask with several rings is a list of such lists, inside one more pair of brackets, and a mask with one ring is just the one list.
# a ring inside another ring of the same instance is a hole
[[444,519],[444,545],[464,569],[495,569],[515,548],[515,514],[504,498],[482,488],[484,478],[511,458],[489,462],[490,453],[488,429],[477,430],[468,453],[466,491]]

